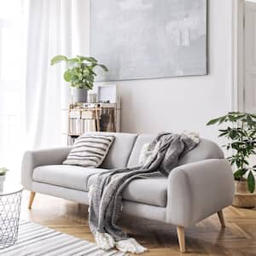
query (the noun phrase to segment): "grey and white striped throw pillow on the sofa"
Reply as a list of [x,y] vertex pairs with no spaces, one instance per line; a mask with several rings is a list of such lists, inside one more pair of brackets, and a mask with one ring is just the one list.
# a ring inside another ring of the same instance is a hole
[[108,154],[113,136],[84,134],[77,138],[64,165],[98,167]]

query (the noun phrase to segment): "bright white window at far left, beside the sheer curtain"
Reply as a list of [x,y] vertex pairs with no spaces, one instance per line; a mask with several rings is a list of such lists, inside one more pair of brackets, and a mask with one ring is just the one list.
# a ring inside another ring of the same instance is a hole
[[22,145],[22,7],[22,0],[0,0],[0,166],[10,169],[19,166]]

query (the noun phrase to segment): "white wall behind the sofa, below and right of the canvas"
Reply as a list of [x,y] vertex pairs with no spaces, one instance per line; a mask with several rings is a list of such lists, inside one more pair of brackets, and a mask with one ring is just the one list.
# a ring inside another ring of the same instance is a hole
[[[86,35],[88,7],[86,4]],[[205,124],[230,111],[232,105],[232,0],[209,0],[208,9],[209,75],[115,82],[122,100],[122,131],[189,130],[216,140],[217,127]],[[84,54],[88,54],[88,40]]]

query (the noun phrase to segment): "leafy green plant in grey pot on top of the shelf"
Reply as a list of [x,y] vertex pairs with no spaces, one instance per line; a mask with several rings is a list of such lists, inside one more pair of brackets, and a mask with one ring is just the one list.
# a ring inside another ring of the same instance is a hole
[[87,90],[91,90],[94,85],[96,67],[100,67],[105,72],[108,72],[108,68],[105,65],[99,64],[95,58],[80,55],[71,59],[65,55],[57,55],[52,58],[50,64],[55,65],[61,61],[66,62],[64,79],[73,88],[73,103],[86,102]]

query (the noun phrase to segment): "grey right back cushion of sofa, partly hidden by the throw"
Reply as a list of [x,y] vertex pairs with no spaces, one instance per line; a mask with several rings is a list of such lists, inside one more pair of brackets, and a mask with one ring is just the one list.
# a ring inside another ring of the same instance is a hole
[[[145,143],[151,143],[154,140],[155,135],[139,135],[131,150],[131,156],[128,160],[127,167],[133,167],[138,165],[139,156],[143,145]],[[197,162],[200,160],[207,159],[222,159],[224,158],[224,153],[221,148],[218,147],[216,143],[209,141],[207,139],[201,138],[201,142],[187,154],[179,160],[179,166]]]

